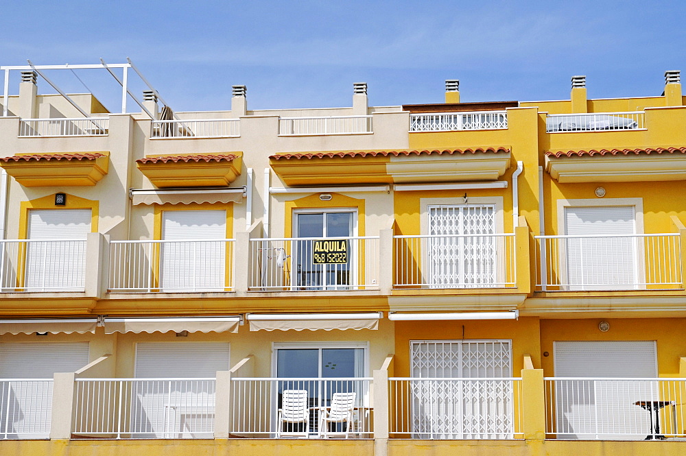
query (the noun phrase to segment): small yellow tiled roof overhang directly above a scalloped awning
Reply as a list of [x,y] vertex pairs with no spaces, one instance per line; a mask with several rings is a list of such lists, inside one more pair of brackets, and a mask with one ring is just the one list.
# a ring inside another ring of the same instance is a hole
[[226,187],[241,174],[243,152],[151,156],[136,165],[158,189]]

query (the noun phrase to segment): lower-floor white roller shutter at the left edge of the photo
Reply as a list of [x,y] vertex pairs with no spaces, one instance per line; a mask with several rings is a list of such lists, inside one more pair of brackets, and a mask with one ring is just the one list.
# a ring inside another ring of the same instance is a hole
[[86,364],[88,342],[0,344],[0,431],[10,438],[49,437],[51,379],[56,372],[74,372]]

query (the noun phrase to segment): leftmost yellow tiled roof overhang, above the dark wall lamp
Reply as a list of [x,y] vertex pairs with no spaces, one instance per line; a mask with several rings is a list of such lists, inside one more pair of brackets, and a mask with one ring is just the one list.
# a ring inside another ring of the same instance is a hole
[[109,169],[109,152],[17,154],[0,167],[24,187],[93,186]]

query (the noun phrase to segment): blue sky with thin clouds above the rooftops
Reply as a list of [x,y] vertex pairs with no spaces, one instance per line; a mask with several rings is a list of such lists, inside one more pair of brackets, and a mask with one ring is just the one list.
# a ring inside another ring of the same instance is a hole
[[[5,0],[0,15],[0,64],[128,56],[175,110],[228,109],[234,84],[269,109],[350,106],[353,82],[386,106],[441,102],[446,79],[462,101],[523,101],[568,98],[572,75],[596,98],[660,95],[668,69],[686,77],[685,0]],[[114,80],[78,75],[117,108]]]

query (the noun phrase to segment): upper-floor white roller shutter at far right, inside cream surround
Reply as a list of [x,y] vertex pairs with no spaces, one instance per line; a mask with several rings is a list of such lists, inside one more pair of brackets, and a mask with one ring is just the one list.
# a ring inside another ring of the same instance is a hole
[[634,206],[565,208],[567,280],[571,289],[628,289],[639,280],[641,244],[635,237]]

